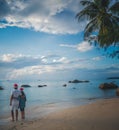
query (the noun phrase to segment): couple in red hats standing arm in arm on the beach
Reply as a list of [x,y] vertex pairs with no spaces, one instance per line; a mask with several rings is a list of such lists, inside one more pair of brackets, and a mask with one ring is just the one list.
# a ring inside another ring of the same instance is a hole
[[26,95],[23,91],[23,88],[18,90],[18,84],[14,84],[14,90],[10,96],[10,106],[11,106],[11,116],[12,121],[16,119],[18,120],[18,109],[21,111],[21,119],[25,119],[25,103],[26,103]]

